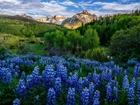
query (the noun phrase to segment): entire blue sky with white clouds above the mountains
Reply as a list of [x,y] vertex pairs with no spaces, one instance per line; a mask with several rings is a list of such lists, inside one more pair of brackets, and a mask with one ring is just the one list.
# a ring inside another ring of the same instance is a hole
[[140,9],[140,0],[0,0],[0,14],[32,17],[71,17],[83,10],[100,16],[130,13],[135,9]]

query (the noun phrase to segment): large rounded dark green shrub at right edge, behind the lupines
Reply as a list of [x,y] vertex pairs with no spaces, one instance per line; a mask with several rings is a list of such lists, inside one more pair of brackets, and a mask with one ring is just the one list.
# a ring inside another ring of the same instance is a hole
[[140,60],[140,25],[116,32],[111,37],[110,51],[117,62],[127,62],[128,59]]

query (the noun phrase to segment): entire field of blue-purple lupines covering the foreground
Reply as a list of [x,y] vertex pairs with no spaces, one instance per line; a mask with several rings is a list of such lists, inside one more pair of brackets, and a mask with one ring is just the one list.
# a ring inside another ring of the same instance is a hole
[[140,105],[140,63],[0,55],[1,105]]

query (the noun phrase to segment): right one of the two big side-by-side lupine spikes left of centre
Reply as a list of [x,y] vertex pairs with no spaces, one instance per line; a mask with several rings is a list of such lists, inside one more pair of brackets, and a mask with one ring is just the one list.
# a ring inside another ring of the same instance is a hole
[[56,77],[61,77],[62,82],[67,81],[67,68],[62,64],[57,65]]

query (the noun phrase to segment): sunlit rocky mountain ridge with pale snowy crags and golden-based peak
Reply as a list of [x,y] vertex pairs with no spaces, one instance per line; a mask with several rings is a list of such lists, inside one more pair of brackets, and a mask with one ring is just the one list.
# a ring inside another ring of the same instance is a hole
[[84,10],[81,13],[77,13],[76,15],[73,15],[71,18],[55,15],[52,17],[36,18],[35,20],[38,22],[63,25],[64,27],[69,29],[76,29],[82,25],[97,20],[97,16],[95,14],[89,13],[87,10]]

